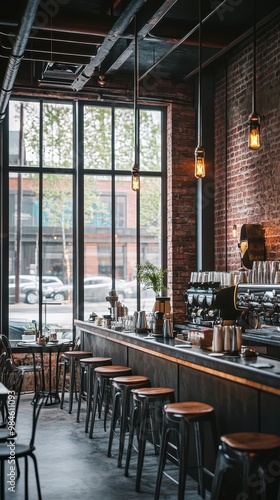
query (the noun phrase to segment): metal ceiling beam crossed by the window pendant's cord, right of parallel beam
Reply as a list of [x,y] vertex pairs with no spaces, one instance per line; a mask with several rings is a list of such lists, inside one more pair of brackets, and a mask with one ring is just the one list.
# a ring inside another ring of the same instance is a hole
[[[149,11],[144,13],[143,19],[141,19],[141,14],[138,18],[138,26],[141,28],[138,30],[138,40],[143,40],[145,36],[156,26],[156,24],[165,16],[165,14],[173,7],[173,5],[177,2],[177,0],[157,0],[152,3],[152,9],[149,7]],[[147,4],[146,4],[147,5]],[[118,70],[123,63],[133,54],[135,49],[135,40],[133,39],[128,47],[122,52],[122,54],[110,65],[106,68],[102,66],[102,72],[105,74],[111,73],[113,71]]]

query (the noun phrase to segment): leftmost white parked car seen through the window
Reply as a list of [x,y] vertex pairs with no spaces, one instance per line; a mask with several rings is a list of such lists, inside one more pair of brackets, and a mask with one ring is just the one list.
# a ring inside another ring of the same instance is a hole
[[[57,276],[42,276],[42,293],[45,298],[54,290],[63,286],[63,282]],[[9,302],[15,302],[16,277],[9,276]],[[20,275],[19,277],[19,300],[27,304],[38,302],[39,280],[34,274]]]

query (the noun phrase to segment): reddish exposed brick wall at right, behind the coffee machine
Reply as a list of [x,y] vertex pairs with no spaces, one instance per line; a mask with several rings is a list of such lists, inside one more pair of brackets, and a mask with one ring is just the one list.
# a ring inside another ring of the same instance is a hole
[[[215,92],[215,267],[240,266],[237,240],[242,224],[265,229],[267,260],[280,259],[280,24],[257,33],[256,111],[261,148],[247,146],[252,111],[252,43],[236,52],[216,74]],[[226,129],[227,125],[227,129]],[[227,143],[226,143],[227,137]]]

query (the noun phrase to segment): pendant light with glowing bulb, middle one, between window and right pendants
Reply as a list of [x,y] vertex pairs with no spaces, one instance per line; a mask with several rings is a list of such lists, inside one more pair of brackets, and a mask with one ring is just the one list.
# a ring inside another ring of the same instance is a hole
[[202,12],[201,0],[199,0],[199,62],[198,62],[198,96],[197,96],[197,147],[195,148],[195,177],[201,179],[205,177],[205,151],[202,147],[202,107],[201,107],[201,31],[202,31]]

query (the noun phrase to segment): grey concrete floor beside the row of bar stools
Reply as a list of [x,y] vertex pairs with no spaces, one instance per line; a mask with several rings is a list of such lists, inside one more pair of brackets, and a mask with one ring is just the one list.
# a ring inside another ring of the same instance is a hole
[[[24,394],[20,401],[18,416],[18,442],[29,439],[32,416],[31,395]],[[39,466],[43,500],[152,500],[154,498],[157,474],[157,457],[148,443],[141,492],[135,492],[135,470],[137,453],[133,451],[130,475],[124,476],[124,466],[117,467],[117,437],[114,438],[112,457],[107,457],[109,433],[104,432],[103,421],[97,419],[94,437],[84,432],[84,408],[80,423],[76,423],[77,403],[73,413],[68,414],[59,405],[43,407],[36,434],[36,456]],[[123,461],[124,462],[124,461]],[[24,464],[21,461],[21,476],[16,481],[16,492],[6,493],[6,500],[24,499]],[[174,469],[174,466],[171,466]],[[176,468],[175,468],[176,469]],[[8,471],[6,470],[6,473]],[[175,470],[175,473],[177,470]],[[29,500],[37,499],[33,464],[29,466]],[[162,500],[177,500],[177,485],[163,476]],[[197,485],[187,479],[185,498],[198,500]],[[209,499],[209,494],[206,496]]]

